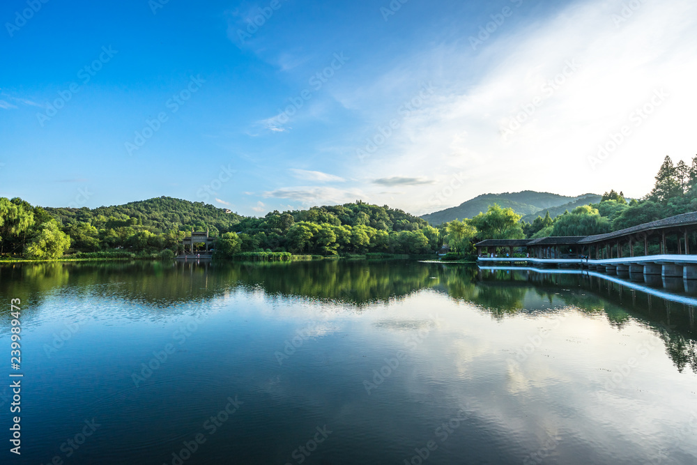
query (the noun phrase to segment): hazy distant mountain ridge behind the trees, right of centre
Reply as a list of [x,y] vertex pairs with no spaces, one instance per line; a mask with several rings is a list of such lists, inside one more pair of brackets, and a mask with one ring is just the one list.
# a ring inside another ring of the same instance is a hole
[[463,202],[459,206],[428,213],[420,218],[427,220],[431,224],[442,224],[452,220],[473,218],[480,212],[486,212],[489,206],[498,204],[501,208],[513,208],[516,213],[523,215],[523,219],[530,222],[535,220],[537,215],[544,216],[546,211],[549,211],[549,215],[554,218],[564,213],[567,209],[570,211],[576,208],[576,206],[596,203],[600,199],[602,199],[602,196],[596,194],[568,197],[534,190],[503,192],[502,194],[482,194]]

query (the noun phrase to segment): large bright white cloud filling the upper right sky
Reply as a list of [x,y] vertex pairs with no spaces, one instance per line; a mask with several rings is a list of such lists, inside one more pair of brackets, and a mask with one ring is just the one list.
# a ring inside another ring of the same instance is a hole
[[[362,162],[355,157],[353,170],[386,174],[399,167],[405,177],[436,184],[434,192],[402,185],[407,192],[396,203],[366,187],[365,200],[427,213],[434,210],[429,197],[450,185],[454,172],[468,174],[468,180],[450,195],[450,204],[438,209],[484,192],[524,189],[579,195],[615,188],[644,195],[664,155],[676,160],[695,153],[697,5],[691,0],[645,1],[616,25],[613,14],[621,10],[620,0],[574,3],[546,22],[511,30],[508,36],[502,28],[476,56],[461,43],[440,45],[415,52],[412,68],[385,72],[369,96],[375,97],[381,86],[394,88],[395,75],[404,73],[432,81],[435,93],[406,116],[397,108],[415,88],[402,86],[401,96],[378,102],[395,109],[386,121],[399,118],[399,129]],[[575,70],[567,64],[572,60]],[[473,69],[482,72],[472,77]],[[564,82],[550,95],[546,83],[564,71]],[[631,112],[660,89],[668,93],[666,101],[641,125],[631,123]],[[343,95],[349,95],[347,89]],[[543,100],[534,114],[504,138],[501,128],[538,97]],[[344,105],[378,106],[361,98],[346,97]],[[631,125],[631,135],[592,169],[589,158],[598,145],[623,125]]]

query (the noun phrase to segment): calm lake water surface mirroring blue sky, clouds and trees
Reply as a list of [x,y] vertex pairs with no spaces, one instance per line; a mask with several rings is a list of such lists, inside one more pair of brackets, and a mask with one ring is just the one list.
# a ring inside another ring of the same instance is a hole
[[697,464],[694,307],[603,277],[31,264],[0,296],[2,463]]

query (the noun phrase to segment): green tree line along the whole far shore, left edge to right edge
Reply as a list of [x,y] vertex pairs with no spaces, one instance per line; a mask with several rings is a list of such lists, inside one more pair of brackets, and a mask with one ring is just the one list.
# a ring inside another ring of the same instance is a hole
[[433,227],[422,218],[355,201],[307,210],[243,217],[203,202],[160,197],[100,208],[42,208],[15,197],[0,198],[0,254],[56,259],[63,254],[171,257],[187,231],[210,231],[221,257],[244,252],[292,252],[337,256],[382,252],[433,254],[447,243],[457,254],[473,253],[484,239],[590,236],[697,211],[697,156],[677,165],[666,156],[654,188],[643,199],[605,192],[588,204],[532,222],[494,204],[473,218]]

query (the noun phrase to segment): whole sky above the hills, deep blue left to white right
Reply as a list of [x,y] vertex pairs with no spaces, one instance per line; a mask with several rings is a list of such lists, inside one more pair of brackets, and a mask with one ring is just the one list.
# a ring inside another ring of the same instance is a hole
[[696,22],[691,0],[9,0],[0,196],[639,197],[697,153]]

